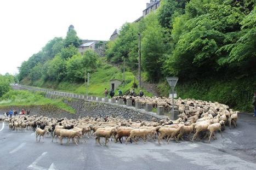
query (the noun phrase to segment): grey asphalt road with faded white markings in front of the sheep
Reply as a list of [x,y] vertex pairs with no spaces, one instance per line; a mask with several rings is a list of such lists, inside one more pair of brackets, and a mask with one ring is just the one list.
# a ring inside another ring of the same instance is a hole
[[[181,142],[158,145],[95,144],[60,145],[50,138],[35,142],[35,134],[10,132],[0,123],[0,169],[255,169],[256,119],[240,115],[237,128],[211,144]],[[65,142],[65,140],[64,140]],[[102,141],[103,143],[103,141]]]

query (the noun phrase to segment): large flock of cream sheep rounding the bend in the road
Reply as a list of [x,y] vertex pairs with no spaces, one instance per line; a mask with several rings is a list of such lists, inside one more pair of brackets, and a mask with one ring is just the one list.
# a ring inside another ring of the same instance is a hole
[[[160,104],[167,102],[162,99],[161,102],[155,102],[151,98],[152,103]],[[147,101],[148,102],[148,101]],[[178,108],[180,114],[177,120],[160,120],[156,121],[133,121],[122,118],[81,118],[81,119],[55,119],[45,116],[16,116],[13,118],[0,118],[0,121],[9,123],[9,129],[12,131],[32,130],[36,133],[36,141],[39,136],[52,137],[57,141],[59,137],[60,143],[62,139],[67,138],[69,145],[70,139],[77,144],[79,140],[84,140],[95,136],[96,143],[100,143],[100,138],[105,138],[105,145],[109,139],[114,142],[122,143],[123,139],[127,142],[135,142],[139,139],[145,143],[146,140],[165,139],[167,143],[171,139],[179,140],[197,140],[208,138],[216,139],[215,132],[225,130],[225,125],[234,125],[236,127],[237,114],[227,105],[218,102],[206,102],[195,99],[177,99],[175,107]],[[194,135],[191,137],[191,134]],[[222,134],[221,134],[222,136]],[[192,139],[191,139],[192,138]]]

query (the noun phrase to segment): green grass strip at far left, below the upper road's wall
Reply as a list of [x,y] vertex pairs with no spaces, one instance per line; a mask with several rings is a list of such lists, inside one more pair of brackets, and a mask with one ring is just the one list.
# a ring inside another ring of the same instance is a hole
[[11,90],[0,98],[0,105],[54,105],[57,108],[75,113],[75,109],[69,107],[61,99],[49,99],[43,96],[43,92],[30,92],[25,90]]

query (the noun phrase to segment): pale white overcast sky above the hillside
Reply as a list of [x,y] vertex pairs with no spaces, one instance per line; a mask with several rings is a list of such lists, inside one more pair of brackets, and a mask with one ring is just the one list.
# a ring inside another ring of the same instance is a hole
[[72,24],[81,39],[109,40],[116,28],[143,15],[150,0],[1,0],[0,74],[23,61]]

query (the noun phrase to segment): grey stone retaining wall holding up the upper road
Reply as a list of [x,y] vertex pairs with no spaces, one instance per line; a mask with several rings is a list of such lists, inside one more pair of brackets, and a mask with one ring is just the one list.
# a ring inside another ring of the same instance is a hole
[[[32,90],[34,91],[35,89],[30,87],[22,87],[22,86],[13,86],[15,90],[21,89],[21,90]],[[41,90],[36,90],[36,91],[41,91]],[[166,119],[166,116],[160,116],[157,115],[156,113],[153,112],[146,112],[144,109],[135,109],[134,107],[127,107],[126,105],[122,104],[116,104],[116,103],[110,103],[110,102],[103,102],[103,101],[92,101],[88,99],[81,99],[79,97],[66,97],[64,96],[59,96],[58,93],[54,91],[46,91],[45,92],[45,97],[48,98],[61,98],[64,103],[72,107],[73,109],[76,110],[76,114],[71,114],[68,112],[64,112],[64,110],[45,110],[41,109],[44,108],[44,106],[38,106],[38,109],[35,109],[35,113],[38,115],[48,115],[51,117],[56,117],[56,118],[71,118],[71,119],[76,119],[76,118],[83,118],[86,116],[92,116],[93,118],[97,117],[102,117],[104,118],[105,116],[120,116],[125,119],[130,119],[132,118],[133,121],[136,120],[151,120],[152,118],[155,118],[156,120],[161,120],[161,119]],[[75,94],[72,94],[71,96],[74,96]],[[67,95],[68,96],[68,95]],[[78,95],[75,95],[78,96]],[[84,97],[82,97],[84,98]],[[25,108],[25,107],[24,107]],[[15,109],[15,107],[13,108]],[[33,108],[32,108],[33,109]],[[31,112],[32,112],[32,109]],[[1,108],[0,108],[1,111]],[[56,112],[56,113],[55,113]]]

